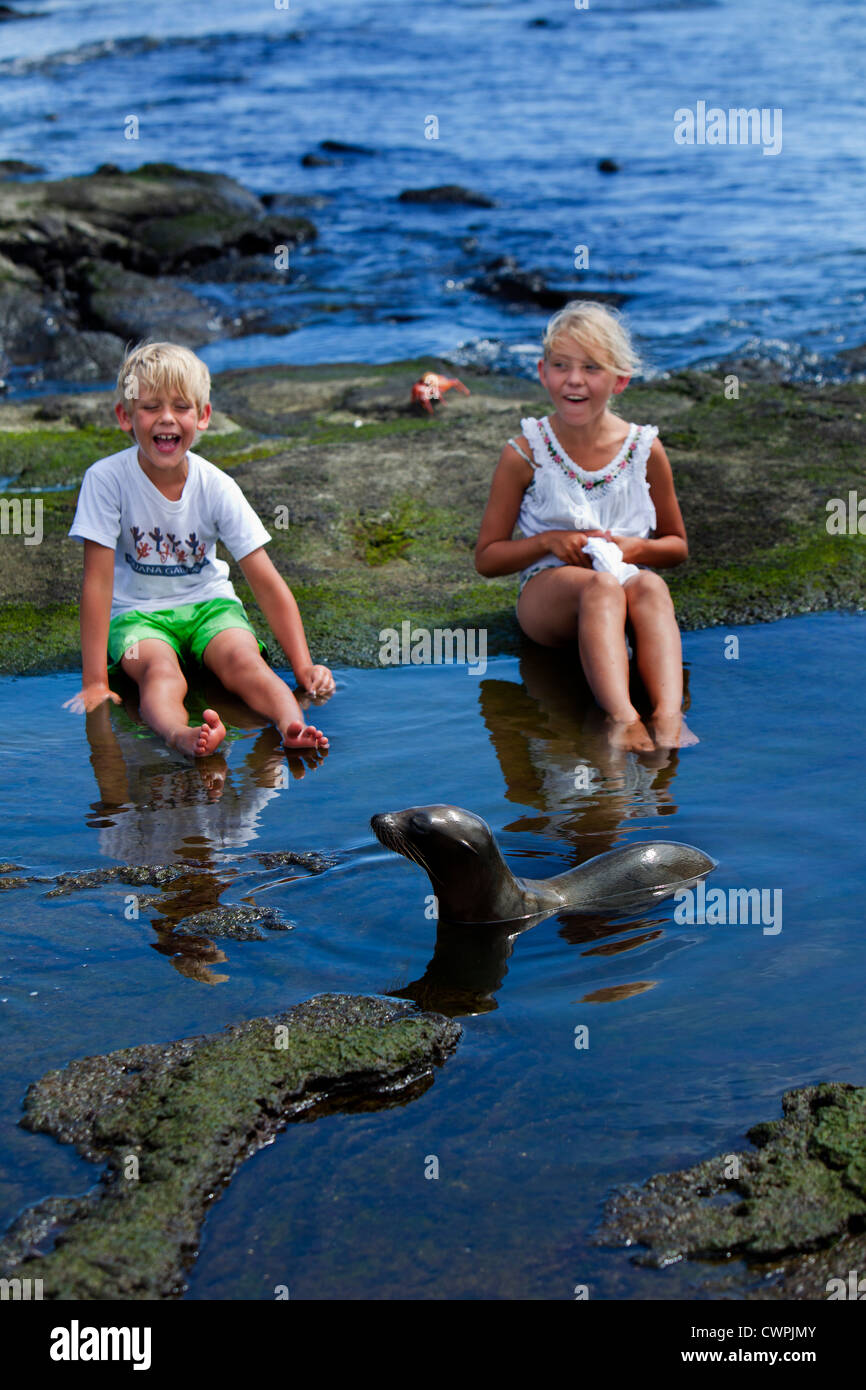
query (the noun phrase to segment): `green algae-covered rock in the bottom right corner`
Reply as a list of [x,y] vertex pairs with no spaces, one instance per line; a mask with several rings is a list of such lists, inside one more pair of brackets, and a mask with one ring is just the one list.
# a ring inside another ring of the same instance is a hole
[[758,1280],[740,1297],[826,1297],[820,1280],[840,1262],[837,1244],[845,1259],[866,1261],[866,1087],[808,1086],[781,1104],[783,1119],[748,1131],[755,1150],[614,1194],[596,1244],[644,1245],[634,1262],[657,1269],[741,1257]]

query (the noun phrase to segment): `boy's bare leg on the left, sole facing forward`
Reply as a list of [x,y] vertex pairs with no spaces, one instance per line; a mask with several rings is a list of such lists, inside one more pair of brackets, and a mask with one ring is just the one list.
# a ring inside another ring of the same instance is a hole
[[188,758],[207,758],[220,746],[225,738],[225,724],[215,709],[204,710],[203,724],[190,727],[188,721],[183,708],[186,680],[168,642],[149,637],[129,648],[121,666],[139,688],[142,719],[167,744]]

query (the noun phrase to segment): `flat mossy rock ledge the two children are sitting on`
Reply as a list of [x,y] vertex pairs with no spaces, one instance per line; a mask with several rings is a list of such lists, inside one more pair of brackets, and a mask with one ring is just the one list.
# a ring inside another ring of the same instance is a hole
[[[430,418],[410,389],[431,368],[453,370],[420,359],[214,378],[199,449],[265,521],[321,660],[377,664],[379,630],[407,619],[487,628],[491,655],[518,649],[516,578],[481,578],[473,549],[502,445],[545,398],[524,378],[459,368],[471,395],[452,392]],[[632,384],[621,410],[659,425],[673,463],[689,560],[666,577],[683,628],[862,606],[862,538],[828,534],[827,503],[866,491],[865,384],[752,381],[746,364],[737,399],[723,377],[688,371]],[[126,446],[113,418],[101,391],[0,404],[6,673],[78,664],[82,562],[65,534],[85,468]],[[39,543],[14,534],[15,505],[36,499]]]

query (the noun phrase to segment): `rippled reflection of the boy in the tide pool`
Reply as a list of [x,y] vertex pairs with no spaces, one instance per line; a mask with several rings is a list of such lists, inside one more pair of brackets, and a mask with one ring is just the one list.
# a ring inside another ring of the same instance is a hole
[[[190,692],[190,719],[200,717],[199,705],[204,709],[213,699],[207,688]],[[242,735],[228,748],[245,746],[240,767],[229,764],[225,745],[210,758],[181,759],[143,724],[135,694],[128,694],[122,708],[106,702],[86,717],[100,795],[86,823],[99,830],[100,853],[110,859],[189,869],[163,891],[139,894],[138,906],[157,913],[154,951],[170,956],[181,974],[206,984],[228,979],[213,970],[225,952],[204,934],[174,935],[174,927],[220,906],[238,876],[227,858],[257,838],[264,808],[289,778],[303,777],[322,760],[316,752],[286,755],[272,726],[261,728],[261,719],[221,687],[218,699],[227,726],[259,730],[257,737]]]

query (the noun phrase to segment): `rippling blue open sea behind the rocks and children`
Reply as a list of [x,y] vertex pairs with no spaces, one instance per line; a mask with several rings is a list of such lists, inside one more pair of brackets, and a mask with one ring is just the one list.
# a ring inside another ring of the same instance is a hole
[[[214,368],[435,352],[530,370],[546,313],[466,284],[502,254],[556,285],[628,293],[656,373],[744,353],[822,379],[863,341],[860,0],[19,8],[39,18],[0,26],[6,157],[53,177],[170,160],[328,200],[288,288],[210,286],[297,325],[211,345]],[[674,111],[699,100],[781,108],[781,153],[674,143]],[[302,168],[321,139],[377,153]],[[601,174],[602,157],[621,171]],[[396,202],[446,182],[498,206]]]

